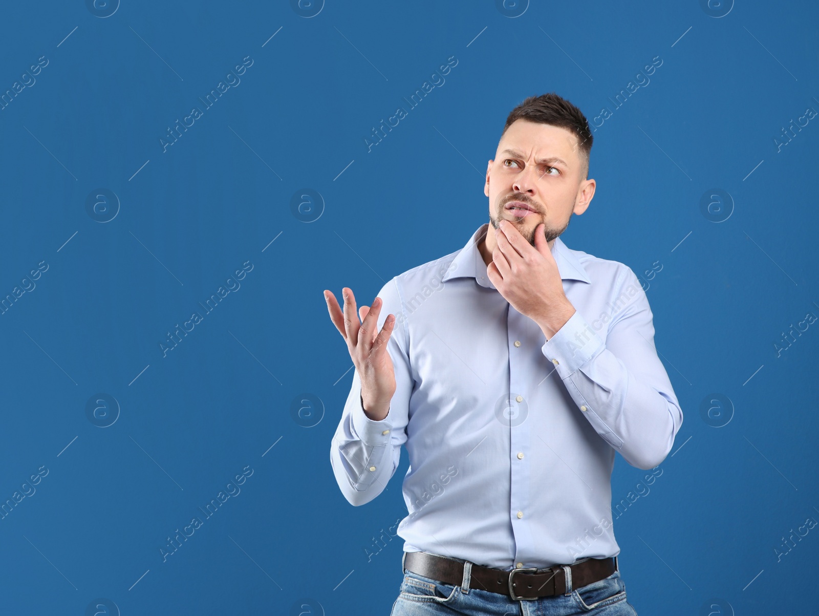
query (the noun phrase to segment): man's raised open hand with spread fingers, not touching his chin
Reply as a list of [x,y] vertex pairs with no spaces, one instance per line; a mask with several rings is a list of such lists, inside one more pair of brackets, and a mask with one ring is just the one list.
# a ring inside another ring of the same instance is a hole
[[373,306],[361,306],[359,319],[352,289],[342,288],[342,295],[345,297],[343,312],[333,292],[324,291],[330,319],[346,341],[347,350],[358,371],[364,414],[370,419],[381,421],[387,417],[390,401],[396,392],[396,372],[392,367],[390,354],[387,353],[387,342],[396,317],[387,315],[383,328],[378,332],[376,328],[382,307],[381,298],[376,297]]

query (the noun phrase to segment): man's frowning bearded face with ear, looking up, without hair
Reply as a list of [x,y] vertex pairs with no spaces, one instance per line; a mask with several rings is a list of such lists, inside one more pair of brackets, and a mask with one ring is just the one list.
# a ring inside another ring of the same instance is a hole
[[[483,193],[489,197],[491,225],[497,229],[500,220],[509,220],[534,246],[535,229],[545,223],[546,241],[553,242],[572,212],[582,214],[594,196],[595,180],[585,174],[572,131],[515,120],[486,166]],[[494,247],[493,233],[487,233],[487,242]]]

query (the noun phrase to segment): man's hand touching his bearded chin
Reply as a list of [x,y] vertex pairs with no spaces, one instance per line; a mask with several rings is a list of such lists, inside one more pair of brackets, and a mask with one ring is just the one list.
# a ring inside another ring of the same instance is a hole
[[497,246],[486,275],[509,304],[536,322],[550,339],[574,314],[563,292],[558,265],[541,225],[535,228],[535,246],[509,220],[495,229]]

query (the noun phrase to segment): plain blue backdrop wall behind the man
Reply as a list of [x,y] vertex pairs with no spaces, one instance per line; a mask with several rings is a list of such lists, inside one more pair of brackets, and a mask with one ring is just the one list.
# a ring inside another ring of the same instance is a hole
[[685,414],[649,486],[617,459],[629,600],[807,613],[819,528],[775,550],[819,520],[819,118],[782,129],[819,111],[819,5],[261,4],[2,7],[2,611],[388,614],[406,454],[376,501],[344,500],[352,363],[322,292],[369,304],[462,247],[505,117],[554,91],[595,125],[597,192],[563,240],[643,279]]

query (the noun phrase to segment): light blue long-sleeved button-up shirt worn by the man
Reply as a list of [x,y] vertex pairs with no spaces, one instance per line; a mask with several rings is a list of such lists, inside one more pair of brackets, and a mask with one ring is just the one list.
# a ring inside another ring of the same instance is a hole
[[396,393],[386,419],[369,419],[353,371],[330,450],[338,486],[352,505],[372,501],[405,445],[405,551],[506,570],[618,555],[614,452],[654,469],[682,424],[649,301],[627,265],[557,238],[576,312],[547,341],[486,276],[488,228],[378,292],[378,330],[396,315]]

